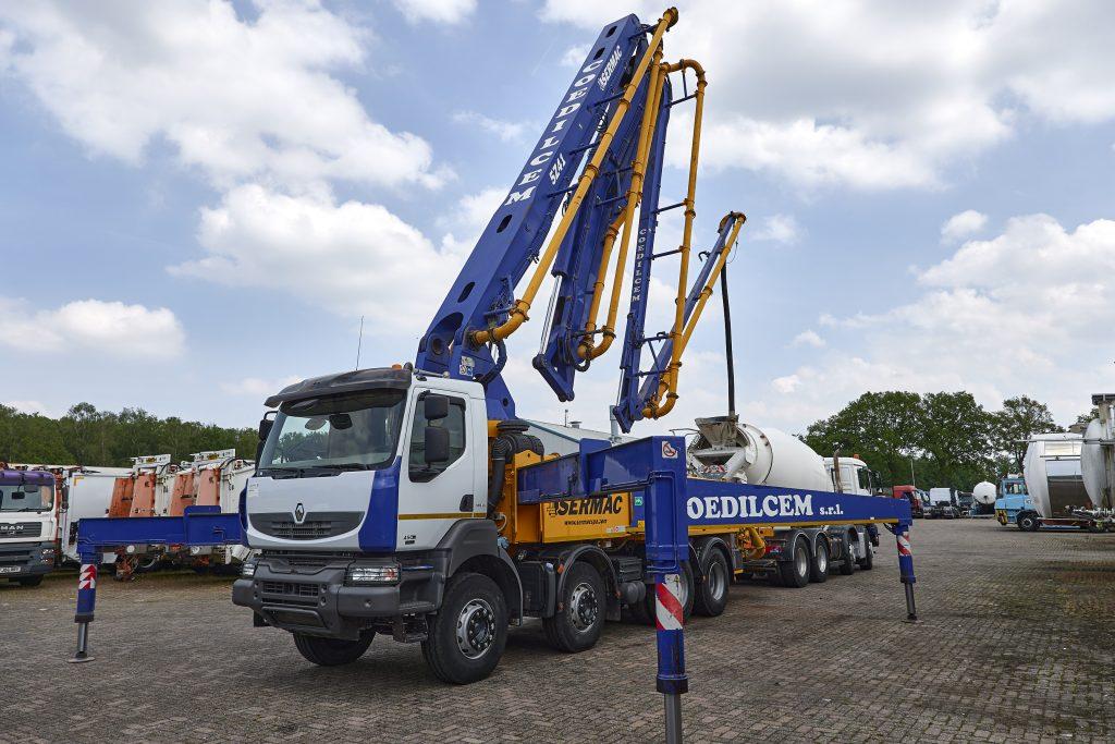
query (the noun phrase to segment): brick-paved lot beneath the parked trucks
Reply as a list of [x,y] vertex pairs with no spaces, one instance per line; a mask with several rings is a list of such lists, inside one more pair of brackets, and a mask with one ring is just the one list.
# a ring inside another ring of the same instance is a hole
[[[689,741],[1112,741],[1115,534],[990,520],[912,533],[922,621],[901,622],[893,539],[872,572],[803,590],[733,588],[687,629]],[[495,675],[449,687],[417,646],[306,663],[254,629],[229,580],[100,583],[91,648],[68,665],[72,574],[0,586],[0,742],[646,742],[661,732],[653,634],[610,625],[585,654],[515,629]]]

